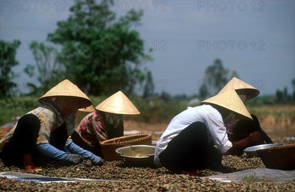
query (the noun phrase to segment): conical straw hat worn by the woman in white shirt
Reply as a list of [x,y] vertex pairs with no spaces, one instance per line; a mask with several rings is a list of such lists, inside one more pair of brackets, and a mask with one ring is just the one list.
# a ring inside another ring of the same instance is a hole
[[246,106],[239,98],[235,90],[229,90],[210,97],[200,104],[214,104],[235,112],[236,119],[253,120]]

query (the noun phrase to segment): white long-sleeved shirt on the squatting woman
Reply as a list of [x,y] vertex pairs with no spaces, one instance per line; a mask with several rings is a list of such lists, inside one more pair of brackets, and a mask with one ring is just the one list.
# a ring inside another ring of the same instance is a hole
[[229,141],[222,116],[218,110],[210,105],[188,107],[176,115],[167,126],[165,132],[157,141],[154,163],[161,166],[159,154],[166,149],[168,143],[176,137],[183,129],[194,122],[202,122],[207,126],[208,141],[213,139],[214,148],[221,154],[229,150],[233,145]]

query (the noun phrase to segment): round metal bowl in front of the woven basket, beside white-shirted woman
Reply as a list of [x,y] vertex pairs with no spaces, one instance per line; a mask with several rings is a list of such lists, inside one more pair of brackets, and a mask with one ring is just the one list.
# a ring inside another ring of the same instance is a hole
[[116,149],[120,159],[128,166],[151,167],[154,164],[155,146],[131,145]]

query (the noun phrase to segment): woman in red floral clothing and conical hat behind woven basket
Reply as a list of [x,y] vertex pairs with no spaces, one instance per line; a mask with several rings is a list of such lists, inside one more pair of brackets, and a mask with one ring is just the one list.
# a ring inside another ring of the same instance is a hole
[[123,114],[140,112],[122,91],[118,91],[82,119],[72,135],[73,141],[101,156],[100,142],[124,135]]

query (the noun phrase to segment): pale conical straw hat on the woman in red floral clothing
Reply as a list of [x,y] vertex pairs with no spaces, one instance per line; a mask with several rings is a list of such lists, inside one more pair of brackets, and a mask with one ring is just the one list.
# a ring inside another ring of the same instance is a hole
[[96,106],[95,109],[116,114],[140,114],[122,91],[113,94]]

